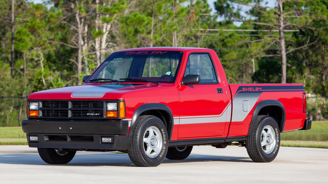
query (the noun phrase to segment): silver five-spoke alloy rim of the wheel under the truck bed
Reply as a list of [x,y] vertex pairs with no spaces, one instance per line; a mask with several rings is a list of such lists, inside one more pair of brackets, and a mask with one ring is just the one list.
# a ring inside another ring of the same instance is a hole
[[261,133],[261,147],[264,153],[270,154],[276,146],[276,133],[271,125],[266,125]]

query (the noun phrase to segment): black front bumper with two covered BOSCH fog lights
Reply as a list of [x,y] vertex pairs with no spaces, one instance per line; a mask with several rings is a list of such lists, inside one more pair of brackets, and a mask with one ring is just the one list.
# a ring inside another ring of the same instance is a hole
[[[128,121],[23,120],[28,144],[36,148],[128,149]],[[37,136],[37,140],[30,140]],[[101,142],[111,137],[111,142]]]

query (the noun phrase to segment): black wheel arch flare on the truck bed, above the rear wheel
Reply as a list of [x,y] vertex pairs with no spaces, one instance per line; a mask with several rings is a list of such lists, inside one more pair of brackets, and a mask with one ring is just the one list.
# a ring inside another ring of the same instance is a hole
[[286,120],[284,106],[281,102],[277,100],[263,100],[259,102],[254,109],[252,121],[247,136],[251,134],[255,119],[258,115],[271,116],[277,121],[280,132],[283,131]]

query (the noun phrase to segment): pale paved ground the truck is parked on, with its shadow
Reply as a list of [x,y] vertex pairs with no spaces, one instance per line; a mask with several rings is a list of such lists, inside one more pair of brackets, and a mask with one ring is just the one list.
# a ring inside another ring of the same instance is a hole
[[36,148],[0,146],[0,183],[328,183],[328,149],[281,147],[271,163],[254,163],[244,147],[196,146],[185,160],[135,167],[127,154],[77,152],[48,165]]

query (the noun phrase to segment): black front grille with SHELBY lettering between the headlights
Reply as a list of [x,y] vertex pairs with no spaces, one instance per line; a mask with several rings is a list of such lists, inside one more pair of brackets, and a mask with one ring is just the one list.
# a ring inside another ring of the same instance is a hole
[[38,118],[99,119],[103,109],[103,101],[40,101]]

